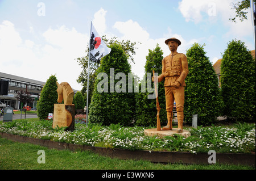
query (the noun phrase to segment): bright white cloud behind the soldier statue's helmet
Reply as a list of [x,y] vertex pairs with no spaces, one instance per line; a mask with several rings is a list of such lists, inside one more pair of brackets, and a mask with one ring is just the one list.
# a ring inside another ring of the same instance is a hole
[[116,22],[113,28],[117,29],[123,36],[119,37],[121,40],[131,40],[135,42],[140,42],[141,44],[137,44],[136,54],[134,56],[135,64],[131,63],[131,71],[137,74],[140,79],[143,78],[144,75],[144,66],[146,64],[146,56],[148,55],[148,49],[155,49],[156,44],[159,44],[159,47],[163,50],[163,57],[168,56],[170,54],[170,50],[168,46],[164,43],[164,41],[170,37],[176,37],[181,41],[181,45],[178,48],[177,52],[185,53],[185,50],[191,46],[193,43],[197,42],[197,40],[185,40],[181,35],[177,33],[172,33],[172,30],[168,28],[168,33],[159,37],[158,39],[151,39],[150,34],[142,28],[138,22],[134,22],[133,20],[128,20],[127,22]]

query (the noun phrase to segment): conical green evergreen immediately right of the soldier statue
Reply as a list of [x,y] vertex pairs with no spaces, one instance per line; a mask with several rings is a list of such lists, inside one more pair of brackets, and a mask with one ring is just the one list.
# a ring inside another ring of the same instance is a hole
[[223,107],[217,75],[203,47],[195,43],[187,50],[189,73],[185,79],[184,120],[188,123],[197,114],[199,124],[210,124],[221,115]]

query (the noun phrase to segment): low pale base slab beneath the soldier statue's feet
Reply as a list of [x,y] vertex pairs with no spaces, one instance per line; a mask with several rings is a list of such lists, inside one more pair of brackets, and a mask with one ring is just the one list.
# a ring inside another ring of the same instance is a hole
[[164,137],[164,136],[173,136],[174,134],[180,134],[181,136],[184,136],[185,138],[191,136],[191,133],[185,129],[183,129],[182,133],[177,132],[177,128],[172,128],[172,130],[168,131],[157,131],[156,128],[152,129],[145,129],[144,135],[145,136],[158,136],[158,137]]

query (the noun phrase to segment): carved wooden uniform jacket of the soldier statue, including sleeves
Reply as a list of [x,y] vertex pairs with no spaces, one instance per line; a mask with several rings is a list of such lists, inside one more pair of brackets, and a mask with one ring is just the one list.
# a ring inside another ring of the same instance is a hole
[[162,74],[158,77],[158,82],[163,81],[164,87],[174,86],[176,81],[181,86],[185,85],[185,78],[188,75],[188,61],[183,53],[170,54],[162,60]]

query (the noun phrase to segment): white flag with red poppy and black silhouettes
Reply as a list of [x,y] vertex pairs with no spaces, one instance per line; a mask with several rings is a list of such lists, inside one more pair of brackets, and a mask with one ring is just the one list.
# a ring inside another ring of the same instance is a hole
[[92,23],[90,28],[90,60],[99,63],[102,57],[110,53],[111,48],[106,46]]

